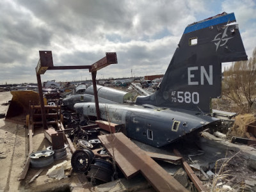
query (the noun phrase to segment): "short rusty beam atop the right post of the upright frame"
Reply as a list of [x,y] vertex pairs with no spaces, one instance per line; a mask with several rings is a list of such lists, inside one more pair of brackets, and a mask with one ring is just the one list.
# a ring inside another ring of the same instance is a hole
[[92,68],[89,69],[90,72],[97,72],[101,68],[107,67],[111,64],[117,63],[116,52],[106,52],[106,57],[92,64]]

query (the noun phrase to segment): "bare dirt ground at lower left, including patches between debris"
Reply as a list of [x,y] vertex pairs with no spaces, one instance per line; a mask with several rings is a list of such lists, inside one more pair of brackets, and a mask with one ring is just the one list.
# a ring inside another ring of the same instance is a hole
[[[12,99],[10,92],[0,92],[0,113],[6,113],[8,106],[2,105]],[[4,118],[0,119],[0,192],[2,191],[74,191],[84,188],[77,175],[67,179],[51,179],[46,173],[49,168],[45,168],[40,176],[31,184],[29,180],[38,172],[38,170],[29,168],[26,179],[19,180],[28,157],[28,128],[24,125],[6,122]],[[44,137],[42,127],[34,129],[33,134],[33,152],[49,147],[51,143]],[[65,159],[55,161],[54,164],[70,160],[71,154]],[[85,191],[85,189],[83,190]]]

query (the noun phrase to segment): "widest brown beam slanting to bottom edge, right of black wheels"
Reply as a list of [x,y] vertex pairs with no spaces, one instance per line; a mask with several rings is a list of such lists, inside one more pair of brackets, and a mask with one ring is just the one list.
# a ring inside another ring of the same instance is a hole
[[141,172],[156,191],[187,191],[122,132],[98,136],[127,179]]

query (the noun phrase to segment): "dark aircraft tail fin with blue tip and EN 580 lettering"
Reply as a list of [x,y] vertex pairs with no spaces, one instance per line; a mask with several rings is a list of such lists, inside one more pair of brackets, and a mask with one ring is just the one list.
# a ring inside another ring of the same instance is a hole
[[234,13],[190,24],[159,88],[138,97],[136,104],[210,113],[211,99],[221,96],[221,62],[241,60],[247,60],[247,55]]

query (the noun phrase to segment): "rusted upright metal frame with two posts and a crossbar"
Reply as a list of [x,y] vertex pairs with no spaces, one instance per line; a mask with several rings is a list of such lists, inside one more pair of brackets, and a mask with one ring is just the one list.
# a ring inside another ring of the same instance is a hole
[[92,73],[93,93],[95,99],[95,108],[97,113],[97,119],[100,119],[99,100],[96,86],[97,70],[107,67],[108,65],[117,63],[116,52],[106,52],[106,56],[101,60],[93,63],[92,65],[76,65],[76,66],[53,66],[52,52],[51,51],[39,51],[40,60],[36,66],[36,79],[38,83],[38,92],[42,113],[42,122],[44,129],[47,129],[44,97],[42,90],[42,82],[40,75],[44,74],[46,70],[71,70],[71,69],[89,69]]

